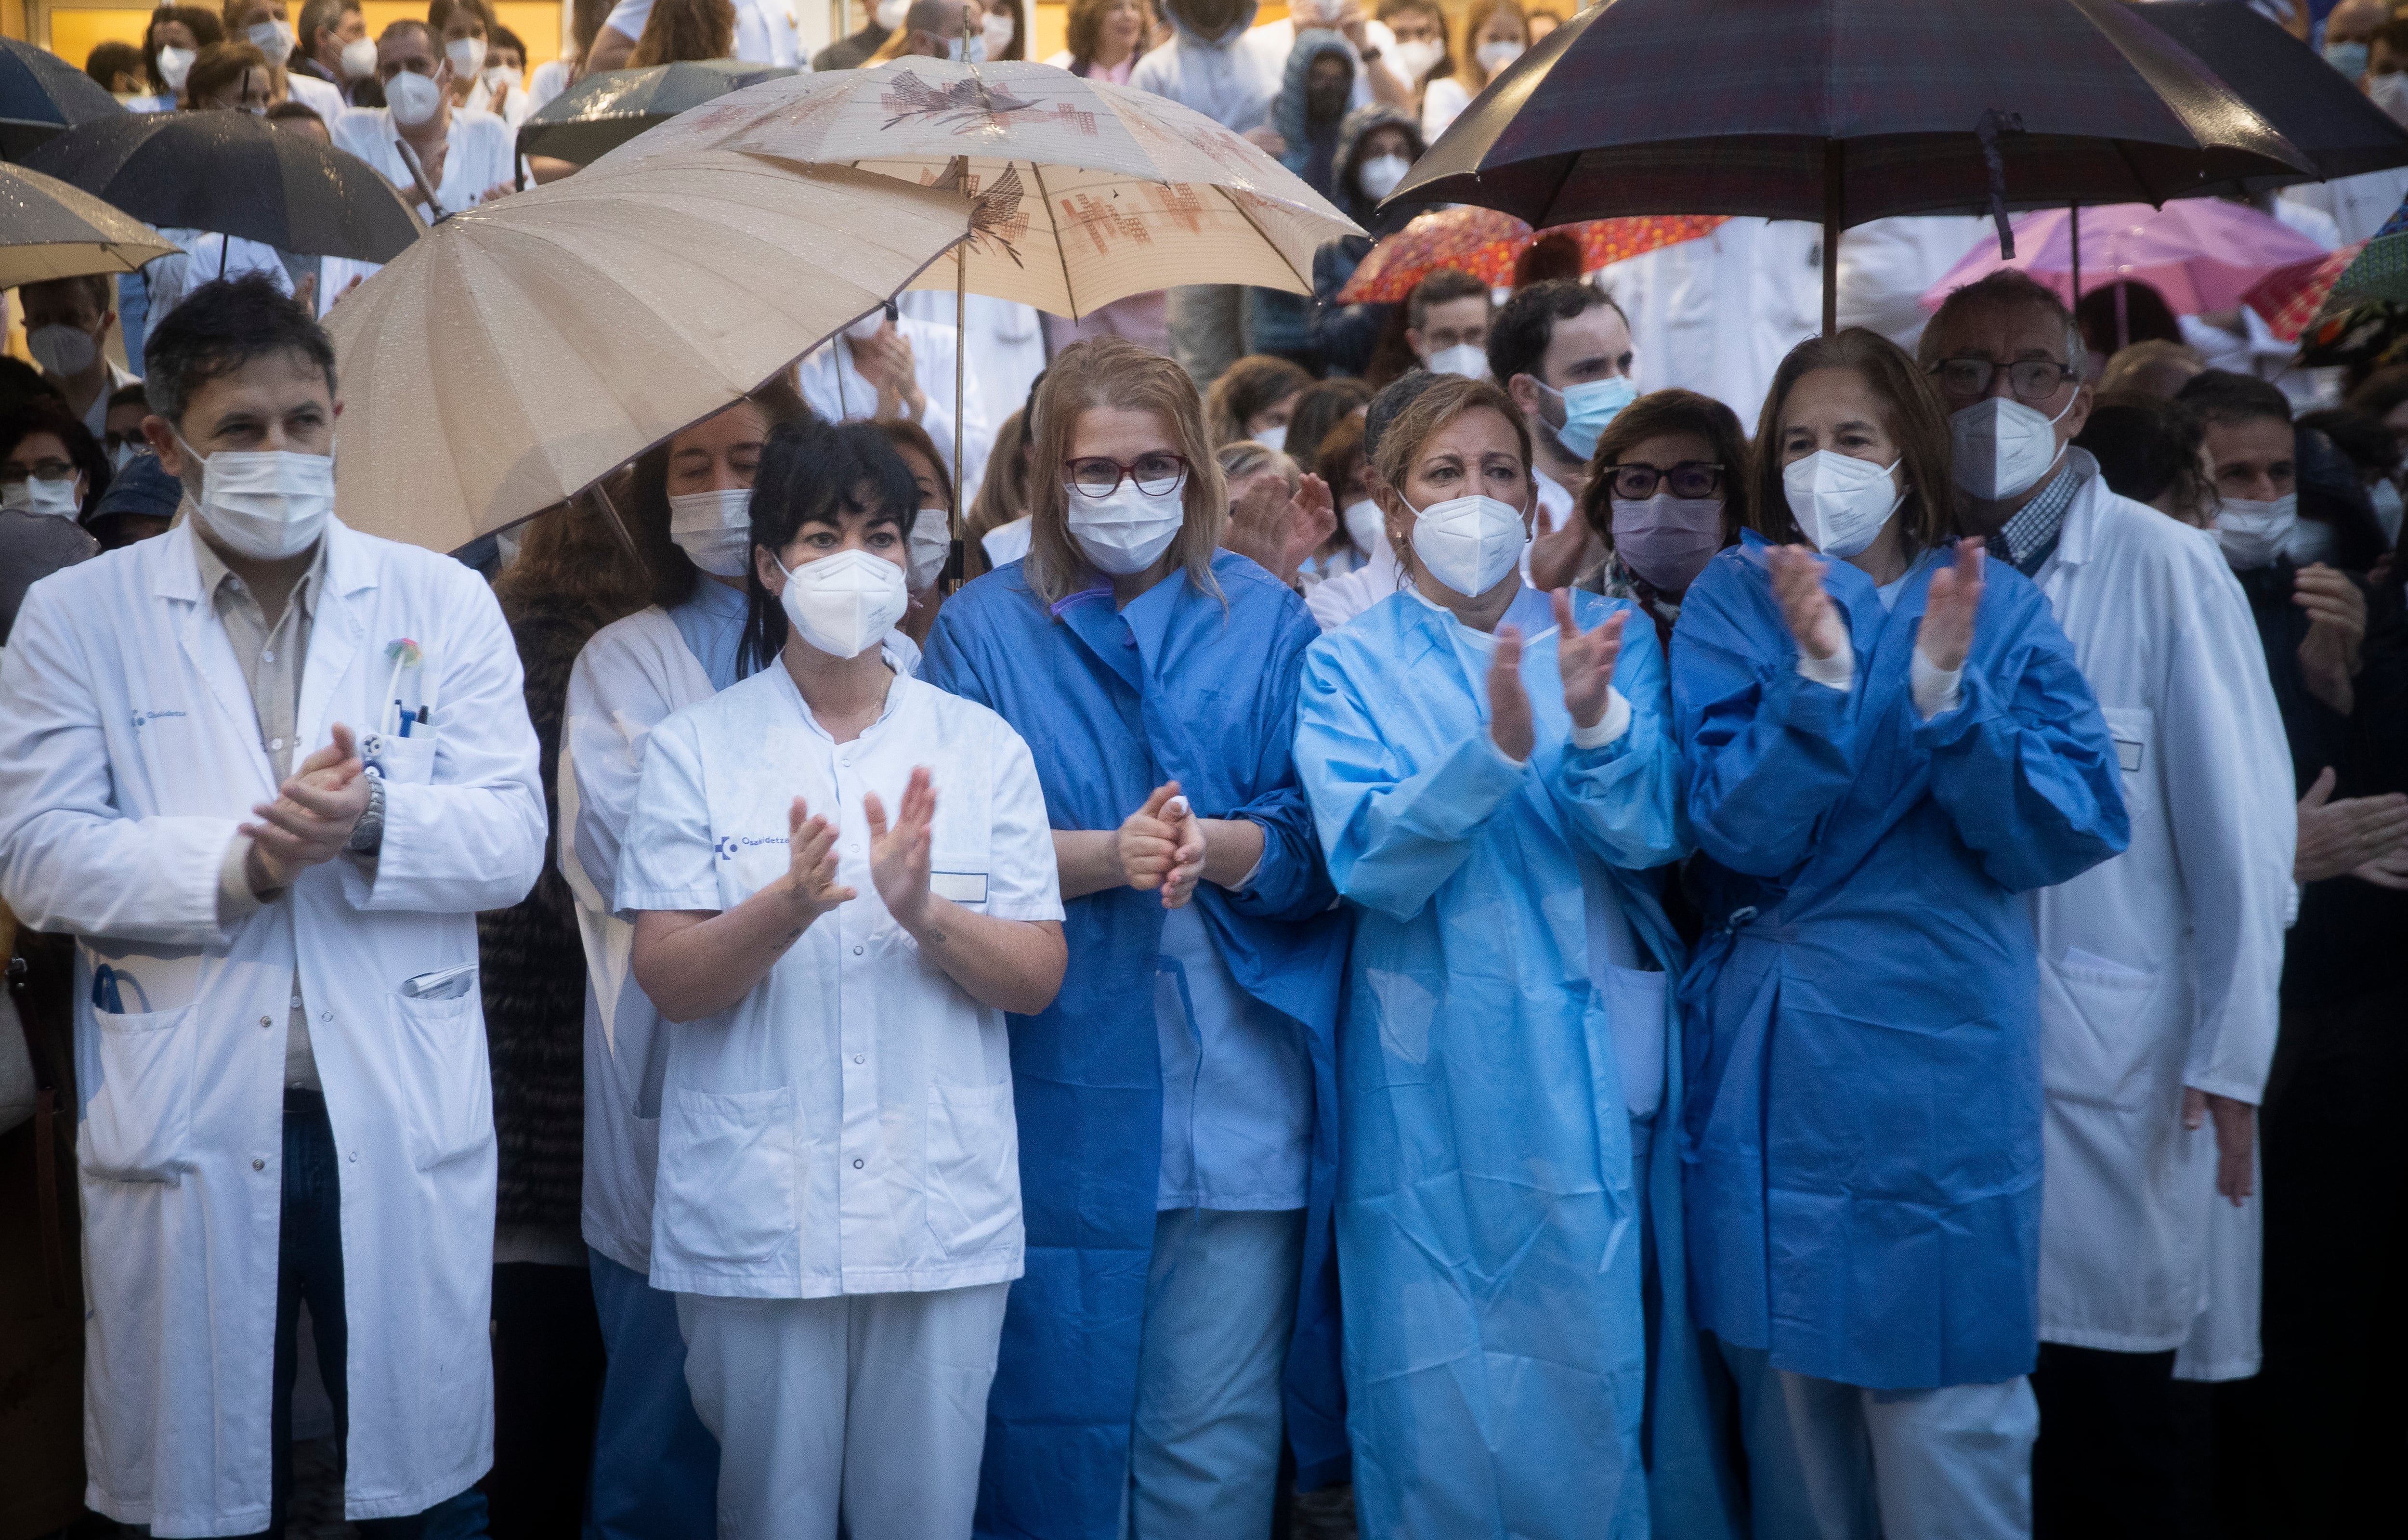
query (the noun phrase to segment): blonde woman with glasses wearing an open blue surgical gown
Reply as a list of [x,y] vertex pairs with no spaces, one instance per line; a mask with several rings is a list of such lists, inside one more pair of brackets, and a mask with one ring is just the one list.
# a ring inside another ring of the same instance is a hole
[[1259,1535],[1281,1424],[1298,1487],[1346,1439],[1346,922],[1291,760],[1320,626],[1218,549],[1228,491],[1170,359],[1064,349],[1031,464],[1028,556],[946,602],[925,664],[1035,753],[1076,958],[1047,1011],[1009,1018],[1028,1273],[980,1530],[1112,1540],[1127,1509],[1137,1535]]

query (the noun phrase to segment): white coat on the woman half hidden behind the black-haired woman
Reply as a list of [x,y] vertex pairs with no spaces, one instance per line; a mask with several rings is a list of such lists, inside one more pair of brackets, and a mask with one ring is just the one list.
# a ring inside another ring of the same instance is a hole
[[660,606],[595,633],[568,671],[561,727],[561,876],[585,938],[585,1244],[653,1270],[653,1174],[669,1042],[631,975],[636,926],[612,910],[619,842],[643,782],[643,746],[674,712],[710,700],[710,676]]

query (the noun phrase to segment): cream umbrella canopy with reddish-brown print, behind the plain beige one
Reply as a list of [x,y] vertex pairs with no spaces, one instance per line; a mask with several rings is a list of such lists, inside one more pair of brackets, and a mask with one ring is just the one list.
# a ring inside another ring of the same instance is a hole
[[614,149],[595,171],[727,147],[961,185],[961,270],[920,286],[1086,315],[1173,284],[1312,291],[1312,250],[1351,219],[1211,118],[1033,63],[913,58],[773,79]]

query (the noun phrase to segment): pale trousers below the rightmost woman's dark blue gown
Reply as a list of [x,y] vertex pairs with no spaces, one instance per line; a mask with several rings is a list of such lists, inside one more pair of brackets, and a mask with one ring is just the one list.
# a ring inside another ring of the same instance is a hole
[[1755,1540],[2030,1540],[2040,1403],[2025,1376],[1866,1391],[1722,1343]]

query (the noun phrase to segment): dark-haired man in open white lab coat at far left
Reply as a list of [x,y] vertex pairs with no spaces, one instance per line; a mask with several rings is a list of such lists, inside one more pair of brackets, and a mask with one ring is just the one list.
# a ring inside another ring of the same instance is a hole
[[518,652],[474,573],[332,517],[335,349],[275,286],[205,284],[152,361],[178,525],[34,585],[0,662],[0,895],[77,938],[87,1502],[282,1533],[306,1304],[344,1514],[482,1535]]

